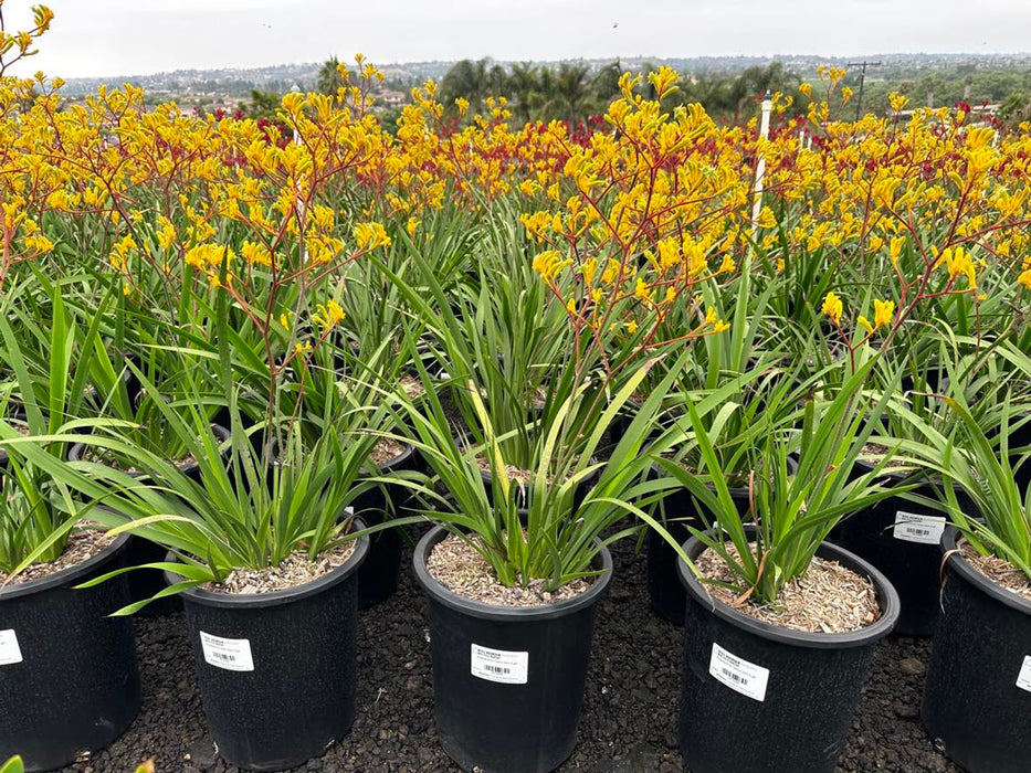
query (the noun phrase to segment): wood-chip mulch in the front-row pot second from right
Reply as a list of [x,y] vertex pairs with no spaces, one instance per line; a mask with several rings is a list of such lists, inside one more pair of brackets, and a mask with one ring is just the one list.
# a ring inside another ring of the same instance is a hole
[[[737,551],[727,544],[733,558]],[[703,576],[737,583],[724,560],[706,548],[695,560]],[[776,606],[761,605],[750,599],[738,602],[739,594],[718,585],[705,584],[717,601],[741,614],[792,631],[811,634],[842,634],[859,631],[881,617],[881,606],[869,578],[842,566],[837,561],[814,557],[809,569],[780,592]]]

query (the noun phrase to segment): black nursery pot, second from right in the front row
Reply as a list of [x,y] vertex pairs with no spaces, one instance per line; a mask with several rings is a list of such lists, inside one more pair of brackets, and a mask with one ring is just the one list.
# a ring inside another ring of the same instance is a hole
[[[684,543],[692,559],[705,546]],[[812,634],[770,625],[715,601],[687,565],[680,742],[693,773],[833,771],[874,644],[898,617],[898,596],[862,559],[829,542],[817,553],[873,582],[881,617],[861,631]]]

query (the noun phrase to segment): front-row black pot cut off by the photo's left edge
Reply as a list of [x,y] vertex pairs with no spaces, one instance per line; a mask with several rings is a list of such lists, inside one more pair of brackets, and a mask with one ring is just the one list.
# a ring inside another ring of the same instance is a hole
[[0,589],[0,760],[25,770],[71,764],[118,738],[139,711],[139,675],[120,575],[75,585],[125,565],[119,537],[93,558]]

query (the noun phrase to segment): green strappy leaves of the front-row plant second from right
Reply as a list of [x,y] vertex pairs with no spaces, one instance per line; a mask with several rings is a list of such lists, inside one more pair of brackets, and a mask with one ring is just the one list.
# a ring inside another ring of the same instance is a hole
[[[898,493],[897,488],[882,489],[876,483],[887,457],[866,474],[853,475],[855,460],[887,401],[888,393],[872,406],[862,399],[873,364],[873,360],[864,363],[832,400],[808,401],[798,430],[789,422],[762,423],[764,432],[755,436],[761,467],[749,475],[750,511],[745,516],[730,498],[732,476],[714,448],[712,430],[694,403],[687,403],[708,485],[673,462],[660,458],[660,464],[704,506],[703,512],[714,513],[714,522],[705,528],[688,528],[720,557],[735,578],[732,590],[743,597],[775,604],[785,584],[806,572],[842,518]],[[788,466],[791,453],[798,454],[795,475]],[[675,544],[669,532],[653,526]],[[749,532],[749,527],[754,531]],[[676,550],[697,573],[680,546]]]

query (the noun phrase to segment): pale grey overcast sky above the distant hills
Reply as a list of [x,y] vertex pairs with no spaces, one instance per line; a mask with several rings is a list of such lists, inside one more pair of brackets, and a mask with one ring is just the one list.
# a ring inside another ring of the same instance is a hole
[[[46,1],[46,0],[44,0]],[[8,30],[30,0],[8,0]],[[778,53],[1021,52],[1031,0],[49,0],[41,54],[63,77],[378,63]]]

